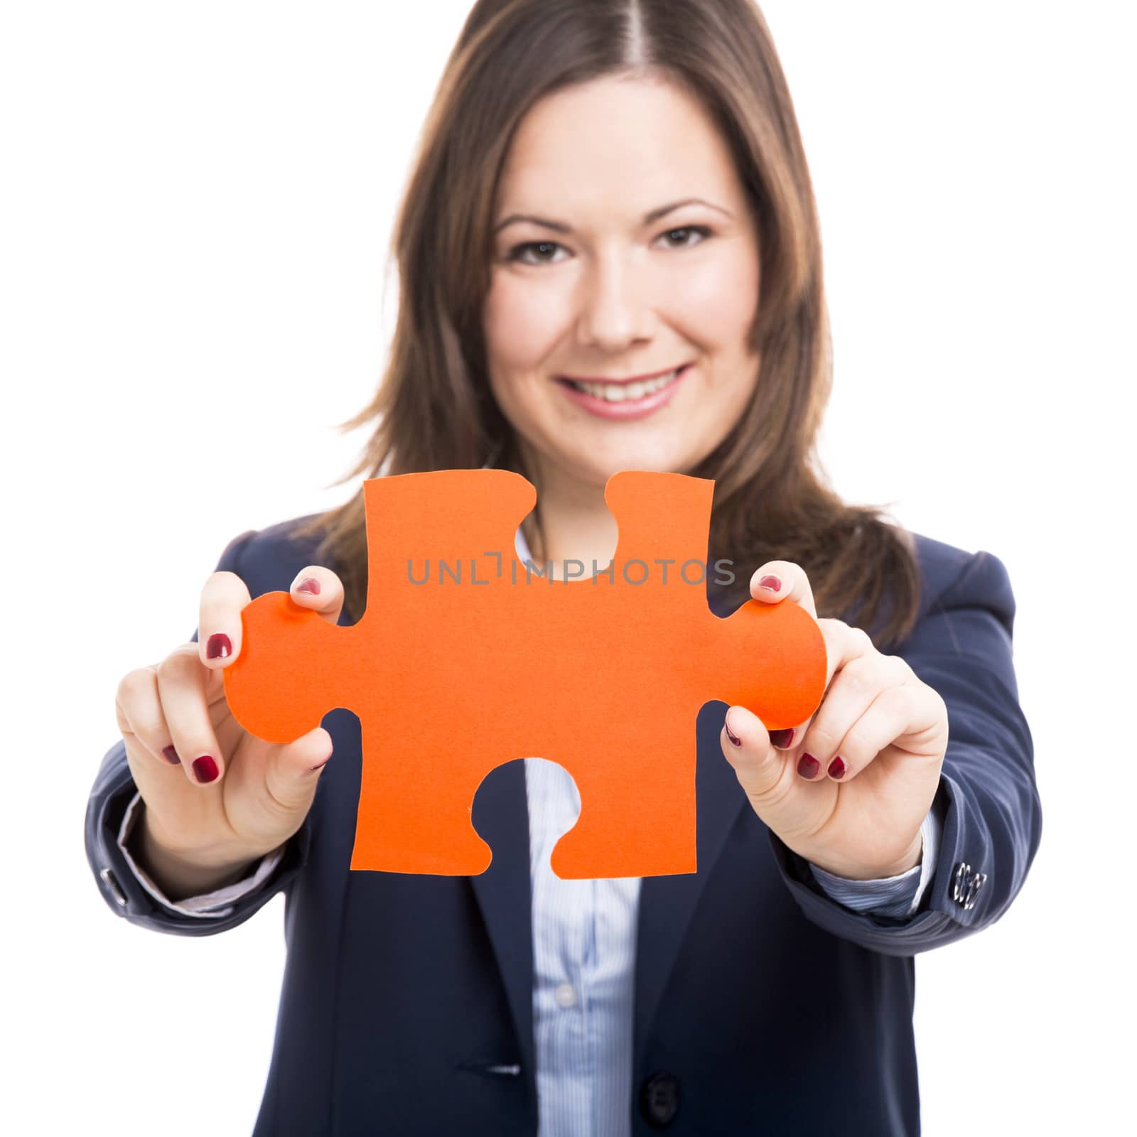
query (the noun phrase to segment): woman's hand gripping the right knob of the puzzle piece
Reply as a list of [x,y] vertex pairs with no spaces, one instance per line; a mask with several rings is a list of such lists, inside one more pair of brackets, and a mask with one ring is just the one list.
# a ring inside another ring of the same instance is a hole
[[[771,576],[780,578],[779,589],[763,587]],[[750,595],[799,604],[818,619],[808,578],[789,561],[764,564]],[[947,706],[860,628],[818,624],[828,656],[821,706],[792,737],[732,706],[722,752],[754,812],[799,856],[853,880],[895,877],[920,863],[920,827],[947,750]]]

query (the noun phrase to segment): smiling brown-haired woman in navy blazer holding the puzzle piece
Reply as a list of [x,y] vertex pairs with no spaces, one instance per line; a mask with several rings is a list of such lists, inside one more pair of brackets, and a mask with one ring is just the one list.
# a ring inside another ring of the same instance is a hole
[[[222,673],[250,597],[362,615],[358,490],[236,538],[201,642],[124,678],[86,827],[108,903],[213,935],[284,890],[257,1134],[918,1132],[913,956],[997,920],[1040,836],[1014,599],[997,557],[816,473],[818,222],[760,13],[476,3],[396,247],[398,327],[347,424],[376,422],[349,476],[522,473],[538,504],[518,551],[554,565],[612,558],[612,473],[712,478],[709,559],[735,581],[708,579],[709,603],[820,617],[824,699],[773,733],[704,708],[697,873],[553,877],[580,803],[540,760],[479,790],[485,873],[352,872],[357,720],[262,742]],[[447,741],[424,724],[424,747]]]

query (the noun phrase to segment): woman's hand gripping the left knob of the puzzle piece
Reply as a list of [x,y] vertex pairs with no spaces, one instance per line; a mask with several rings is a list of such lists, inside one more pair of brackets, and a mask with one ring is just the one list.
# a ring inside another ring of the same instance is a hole
[[[289,595],[333,624],[343,607],[343,586],[330,568],[304,568]],[[147,837],[166,868],[185,870],[182,881],[221,879],[288,840],[331,757],[323,727],[281,745],[233,717],[222,672],[241,652],[241,611],[250,600],[235,573],[213,573],[201,589],[199,641],[130,672],[115,696]]]

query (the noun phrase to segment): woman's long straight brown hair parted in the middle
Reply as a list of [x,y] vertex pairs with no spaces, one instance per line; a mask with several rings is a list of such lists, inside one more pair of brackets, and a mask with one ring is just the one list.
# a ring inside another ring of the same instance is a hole
[[[886,522],[881,507],[846,505],[816,455],[832,382],[816,208],[786,78],[753,0],[478,0],[396,221],[400,291],[387,371],[371,404],[340,426],[374,420],[375,430],[333,484],[487,464],[529,476],[484,365],[481,309],[499,175],[537,100],[614,75],[662,76],[702,100],[733,153],[760,235],[754,397],[722,443],[687,471],[715,482],[708,562],[733,562],[735,582],[721,587],[727,609],[749,597],[763,562],[792,561],[808,574],[819,616],[872,629],[878,647],[903,640],[919,606],[913,537]],[[358,619],[367,580],[362,482],[349,501],[305,518],[297,532],[323,534],[317,559],[340,573]]]

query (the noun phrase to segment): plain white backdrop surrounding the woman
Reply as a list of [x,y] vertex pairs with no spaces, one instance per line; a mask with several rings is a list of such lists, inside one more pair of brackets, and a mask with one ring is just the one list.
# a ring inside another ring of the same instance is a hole
[[[387,242],[468,9],[5,3],[8,1132],[247,1134],[283,897],[116,919],[83,847],[114,694],[236,533],[342,501]],[[1007,915],[918,957],[924,1131],[1131,1117],[1134,27],[1127,6],[770,0],[823,225],[824,459],[1006,564],[1044,804]],[[385,291],[384,291],[384,282]],[[818,1090],[839,1054],[816,1054]]]

